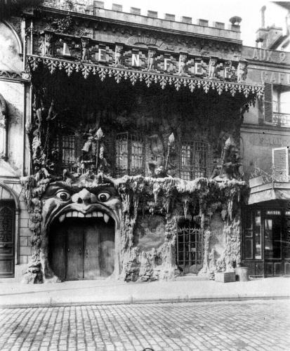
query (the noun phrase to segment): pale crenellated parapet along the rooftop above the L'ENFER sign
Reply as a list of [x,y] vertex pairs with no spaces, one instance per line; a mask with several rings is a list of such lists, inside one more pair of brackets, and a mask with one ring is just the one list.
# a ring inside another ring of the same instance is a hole
[[176,15],[171,13],[165,13],[163,18],[161,18],[157,11],[148,10],[147,14],[144,15],[141,14],[141,9],[136,7],[131,7],[130,13],[127,13],[123,12],[123,6],[119,4],[112,4],[112,9],[107,9],[103,1],[44,0],[44,6],[58,8],[72,13],[93,15],[114,22],[127,22],[128,24],[140,25],[142,27],[154,27],[160,30],[200,34],[202,36],[216,37],[230,41],[241,41],[239,22],[235,22],[232,18],[227,28],[225,28],[226,25],[224,22],[210,23],[209,20],[193,20],[188,16],[177,18]]

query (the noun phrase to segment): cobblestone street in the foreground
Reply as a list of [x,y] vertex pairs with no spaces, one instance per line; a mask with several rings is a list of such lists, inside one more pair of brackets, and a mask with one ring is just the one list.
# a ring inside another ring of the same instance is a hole
[[0,350],[289,350],[289,300],[0,310]]

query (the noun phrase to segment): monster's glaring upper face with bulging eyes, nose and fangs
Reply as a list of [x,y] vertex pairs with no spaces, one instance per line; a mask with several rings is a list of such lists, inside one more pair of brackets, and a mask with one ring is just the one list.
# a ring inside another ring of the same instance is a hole
[[42,198],[42,216],[46,228],[55,220],[65,218],[110,218],[117,221],[121,206],[118,194],[110,184],[93,187],[70,186],[64,182],[51,183]]

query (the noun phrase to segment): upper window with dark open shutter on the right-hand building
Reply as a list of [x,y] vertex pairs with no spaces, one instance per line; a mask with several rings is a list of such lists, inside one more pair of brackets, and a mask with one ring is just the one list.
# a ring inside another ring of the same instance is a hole
[[290,88],[265,83],[265,122],[277,126],[290,126]]

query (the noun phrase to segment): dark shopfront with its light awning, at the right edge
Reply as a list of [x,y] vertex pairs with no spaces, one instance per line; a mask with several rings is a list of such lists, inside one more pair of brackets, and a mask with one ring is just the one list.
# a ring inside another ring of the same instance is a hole
[[[242,260],[252,277],[290,274],[290,211],[288,183],[251,189],[250,206],[243,211]],[[265,189],[268,187],[268,189]],[[257,195],[258,194],[258,195]],[[258,201],[258,199],[275,199]]]

